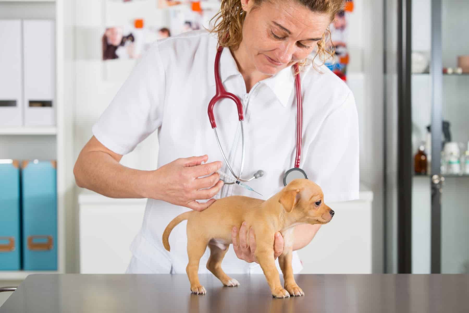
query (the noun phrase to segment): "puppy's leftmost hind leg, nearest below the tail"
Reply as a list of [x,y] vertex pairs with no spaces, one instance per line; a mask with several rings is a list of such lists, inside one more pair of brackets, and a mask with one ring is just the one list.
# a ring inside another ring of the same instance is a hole
[[[189,235],[189,233],[188,233]],[[199,282],[199,262],[200,258],[204,255],[205,249],[207,249],[208,241],[204,241],[201,238],[195,236],[188,236],[187,238],[187,255],[189,257],[189,263],[186,267],[186,273],[189,277],[190,291],[195,294],[205,294],[204,286]]]

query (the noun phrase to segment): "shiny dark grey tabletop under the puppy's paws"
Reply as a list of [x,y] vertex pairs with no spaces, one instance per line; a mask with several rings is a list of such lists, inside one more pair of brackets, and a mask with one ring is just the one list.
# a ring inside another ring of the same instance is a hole
[[200,275],[29,275],[0,313],[469,312],[469,275],[296,275],[304,297],[272,298],[264,275],[232,275],[223,287]]

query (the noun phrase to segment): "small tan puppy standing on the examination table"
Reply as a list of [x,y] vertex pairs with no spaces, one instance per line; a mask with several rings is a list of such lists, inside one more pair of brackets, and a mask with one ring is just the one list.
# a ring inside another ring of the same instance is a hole
[[[295,179],[280,192],[267,200],[244,196],[231,196],[215,201],[202,212],[189,211],[178,215],[171,221],[163,233],[163,244],[170,251],[168,237],[171,230],[183,220],[187,221],[187,253],[189,264],[186,267],[190,281],[190,290],[204,294],[197,271],[199,261],[207,248],[210,258],[207,268],[225,286],[238,286],[239,282],[230,278],[221,269],[221,261],[228,251],[231,230],[241,227],[246,221],[247,229],[254,230],[257,248],[254,252],[264,271],[272,296],[285,298],[304,295],[295,282],[292,268],[292,248],[294,226],[299,224],[325,224],[331,221],[334,211],[324,203],[321,188],[308,179]],[[283,253],[279,256],[279,265],[285,280],[285,289],[280,283],[280,276],[273,257],[274,235],[277,231],[283,236]],[[249,233],[248,233],[249,236]]]

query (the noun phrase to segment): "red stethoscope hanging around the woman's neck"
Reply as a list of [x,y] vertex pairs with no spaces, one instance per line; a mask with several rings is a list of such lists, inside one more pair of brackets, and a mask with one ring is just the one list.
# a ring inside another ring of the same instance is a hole
[[[215,137],[217,138],[217,143],[221,151],[221,155],[223,156],[223,159],[225,159],[225,162],[227,163],[228,168],[230,169],[231,174],[236,178],[236,180],[242,181],[242,182],[249,182],[250,180],[254,178],[259,178],[264,175],[264,171],[258,170],[251,178],[249,179],[243,179],[241,178],[242,174],[242,168],[244,166],[244,130],[242,128],[242,121],[244,120],[244,116],[242,113],[242,104],[241,100],[235,96],[231,92],[227,92],[225,88],[223,87],[223,84],[221,83],[220,79],[220,74],[219,74],[219,64],[220,64],[220,56],[221,52],[223,51],[223,47],[219,46],[217,55],[215,57],[215,84],[216,84],[216,94],[210,100],[210,103],[208,105],[208,116],[210,119],[210,123],[212,124],[212,129],[215,131]],[[294,65],[295,72],[298,72],[298,64]],[[300,74],[295,75],[295,86],[296,86],[296,107],[297,107],[297,121],[296,121],[296,159],[295,159],[295,167],[290,168],[285,172],[283,176],[283,184],[286,186],[289,182],[296,178],[306,178],[308,179],[308,176],[306,173],[303,171],[303,169],[300,168],[300,157],[301,157],[301,134],[302,134],[302,122],[303,122],[303,104],[302,104],[302,99],[301,99],[301,82],[300,82]],[[217,134],[217,124],[215,123],[215,117],[213,115],[213,107],[215,106],[215,103],[220,101],[221,99],[231,99],[234,101],[236,104],[236,107],[238,109],[238,118],[239,122],[241,124],[241,137],[242,137],[242,154],[241,154],[241,168],[239,171],[239,175],[236,176],[234,174],[233,169],[231,168],[230,164],[227,161],[227,158],[225,156],[225,153],[223,152],[223,148],[220,145],[220,140]],[[231,184],[228,182],[225,182],[226,184]]]

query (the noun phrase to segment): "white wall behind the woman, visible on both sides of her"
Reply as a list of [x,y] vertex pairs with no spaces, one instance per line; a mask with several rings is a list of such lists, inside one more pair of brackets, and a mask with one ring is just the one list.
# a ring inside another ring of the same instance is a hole
[[[154,7],[156,1],[150,2]],[[383,3],[373,0],[355,0],[354,2],[355,12],[349,18],[351,63],[348,67],[348,84],[356,96],[360,122],[361,181],[371,186],[374,192],[373,271],[379,273],[383,271]],[[123,82],[121,76],[112,79],[112,75],[108,75],[110,71],[116,70],[113,64],[106,62],[106,65],[103,65],[100,61],[100,38],[106,26],[104,22],[106,13],[103,8],[101,1],[81,0],[75,10],[74,149],[76,157],[91,137],[91,126]],[[91,49],[89,49],[90,46]],[[131,68],[129,63],[125,62],[116,66]],[[122,163],[133,168],[156,168],[157,151],[158,140],[155,133],[139,145],[134,152],[124,156]],[[76,188],[76,193],[78,192],[80,190]],[[77,242],[75,244],[77,248]],[[74,268],[73,271],[78,269],[77,256],[76,252],[76,258],[74,258],[76,262],[69,262],[71,263],[69,268]]]

